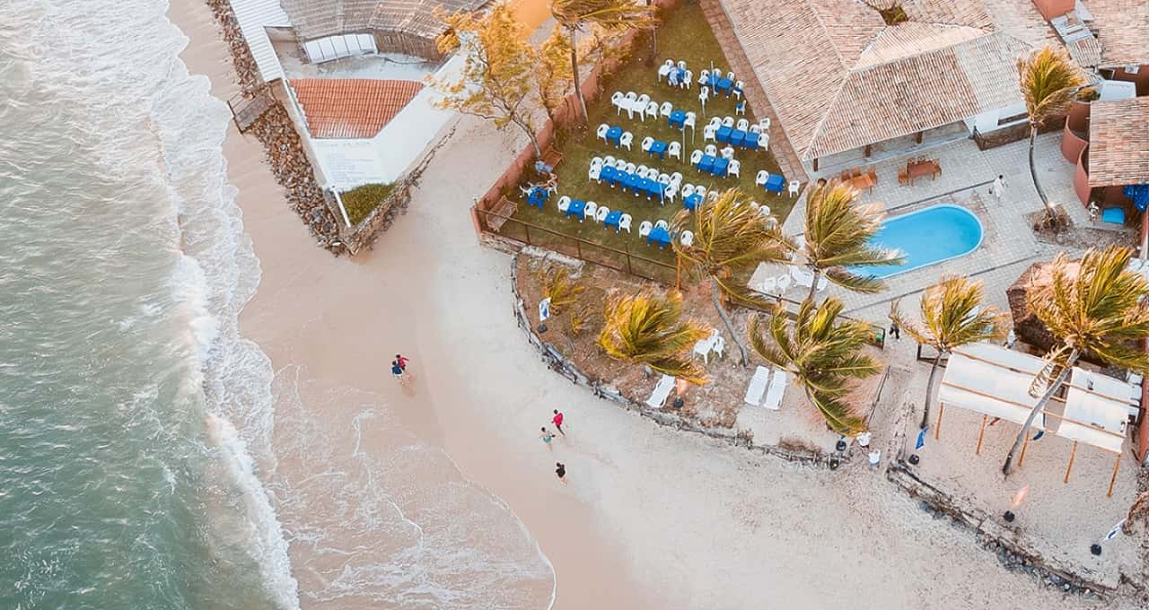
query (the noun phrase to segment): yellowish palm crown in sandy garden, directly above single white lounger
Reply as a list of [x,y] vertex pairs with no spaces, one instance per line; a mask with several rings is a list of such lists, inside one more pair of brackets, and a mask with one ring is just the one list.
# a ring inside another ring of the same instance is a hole
[[616,293],[607,300],[604,317],[599,346],[608,356],[645,364],[692,384],[707,383],[707,373],[691,357],[691,349],[709,332],[694,321],[683,319],[683,298],[678,293],[664,298],[649,292]]

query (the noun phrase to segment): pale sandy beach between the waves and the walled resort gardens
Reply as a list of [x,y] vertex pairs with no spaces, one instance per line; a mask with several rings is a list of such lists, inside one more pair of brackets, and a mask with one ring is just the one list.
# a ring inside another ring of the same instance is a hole
[[[226,99],[230,64],[207,9],[180,0],[172,18],[192,38],[191,70]],[[358,485],[383,481],[373,489],[388,505],[415,507],[407,517],[429,540],[450,534],[454,547],[424,561],[465,562],[439,555],[473,543],[527,562],[498,502],[477,512],[473,493],[452,495],[473,485],[446,455],[525,523],[557,573],[556,608],[1097,608],[1004,571],[972,533],[932,519],[874,472],[813,471],[658,427],[548,371],[514,324],[508,256],[478,246],[466,213],[519,146],[462,119],[410,214],[348,261],[311,244],[259,144],[229,133],[229,173],[263,268],[241,327],[278,371],[280,460],[264,480],[280,500],[304,608],[434,605],[356,592],[354,579],[332,587],[340,562],[391,565],[393,589],[404,565],[425,570],[394,562],[402,546],[386,532],[358,528],[344,496]],[[406,394],[386,371],[396,350],[418,376]],[[553,407],[566,412],[569,437],[548,453],[535,434]],[[403,463],[407,447],[418,449],[407,462],[434,464]],[[427,453],[435,447],[446,454]],[[554,478],[556,458],[568,486]],[[325,474],[345,485],[314,489],[306,510],[284,494]],[[469,527],[452,531],[460,522]],[[316,536],[342,550],[326,553]],[[461,574],[441,586],[472,585]],[[514,600],[491,586],[485,603],[442,605],[541,608],[545,580],[523,579]]]

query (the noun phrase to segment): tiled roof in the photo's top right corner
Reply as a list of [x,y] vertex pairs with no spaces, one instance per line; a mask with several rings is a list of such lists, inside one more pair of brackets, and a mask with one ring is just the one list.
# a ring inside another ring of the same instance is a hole
[[1149,64],[1149,2],[1085,0],[1101,41],[1101,67]]

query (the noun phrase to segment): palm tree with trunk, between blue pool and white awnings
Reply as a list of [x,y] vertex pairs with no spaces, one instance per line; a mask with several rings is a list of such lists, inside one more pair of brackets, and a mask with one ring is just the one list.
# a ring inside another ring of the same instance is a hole
[[899,301],[894,301],[889,317],[917,342],[938,350],[930,369],[930,383],[926,384],[926,402],[920,425],[923,428],[930,422],[930,399],[938,381],[938,371],[941,370],[939,364],[942,356],[956,347],[1001,339],[1004,334],[1003,316],[996,308],[982,307],[982,298],[980,281],[959,276],[943,277],[921,295],[920,325],[902,317]]

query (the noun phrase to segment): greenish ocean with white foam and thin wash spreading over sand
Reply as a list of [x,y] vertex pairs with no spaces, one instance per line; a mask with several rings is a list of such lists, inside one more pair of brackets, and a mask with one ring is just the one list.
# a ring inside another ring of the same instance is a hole
[[[230,114],[167,8],[0,2],[0,608],[548,607],[517,517],[386,404],[354,425],[393,460],[293,465],[331,488],[279,466],[322,434],[276,430],[298,371],[239,333],[260,263]],[[301,586],[300,557],[341,577]]]

